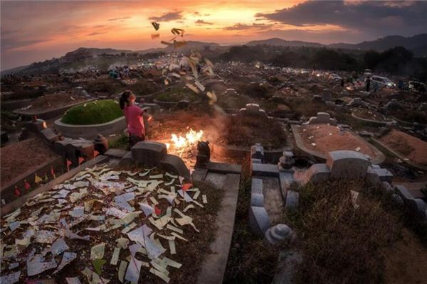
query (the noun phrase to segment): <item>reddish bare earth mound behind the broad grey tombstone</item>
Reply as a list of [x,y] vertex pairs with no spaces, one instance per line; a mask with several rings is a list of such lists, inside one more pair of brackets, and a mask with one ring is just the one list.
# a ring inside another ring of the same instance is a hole
[[[330,133],[332,133],[332,135],[330,135]],[[374,150],[367,141],[364,141],[363,138],[345,130],[344,133],[340,135],[337,126],[327,124],[302,126],[300,127],[300,136],[305,147],[324,155],[330,151],[356,151],[356,149],[360,147],[360,153],[364,153],[365,155],[369,155],[371,158],[375,158]],[[310,137],[312,138],[310,139]],[[312,146],[312,143],[315,143],[316,145]]]

